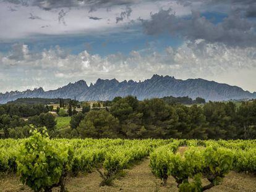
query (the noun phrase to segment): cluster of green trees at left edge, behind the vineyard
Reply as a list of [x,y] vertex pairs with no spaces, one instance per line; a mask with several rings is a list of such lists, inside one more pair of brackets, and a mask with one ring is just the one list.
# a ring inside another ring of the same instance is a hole
[[0,138],[30,136],[30,125],[53,130],[55,117],[44,104],[4,104],[0,106]]

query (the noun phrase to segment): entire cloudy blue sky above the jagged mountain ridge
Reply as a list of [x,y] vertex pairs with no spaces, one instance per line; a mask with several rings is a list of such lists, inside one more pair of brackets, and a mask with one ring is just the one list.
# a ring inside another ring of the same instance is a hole
[[256,91],[255,0],[0,0],[0,92],[153,74]]

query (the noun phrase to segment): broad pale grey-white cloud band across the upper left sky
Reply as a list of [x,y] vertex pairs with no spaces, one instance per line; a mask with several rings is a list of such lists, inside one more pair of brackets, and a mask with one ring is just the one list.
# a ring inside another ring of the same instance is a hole
[[[90,6],[69,8],[69,6],[61,7],[61,2],[58,3],[60,3],[59,6],[53,6],[48,10],[42,9],[44,6],[35,4],[22,6],[0,1],[0,28],[4,29],[0,30],[0,41],[31,38],[33,35],[90,35],[102,34],[106,31],[111,33],[112,31],[116,32],[118,28],[119,30],[126,30],[125,26],[130,25],[130,23],[140,23],[137,20],[139,17],[150,19],[150,13],[156,13],[164,7],[172,6],[177,15],[190,14],[191,9],[166,0],[133,2],[129,8],[126,4],[117,4],[111,7],[111,11],[106,7],[100,7],[93,12],[90,12]],[[11,11],[10,7],[15,8],[15,11]],[[124,11],[127,11],[128,14],[123,18],[121,15]],[[97,20],[96,18],[100,19]],[[119,22],[116,22],[117,18],[119,18]]]

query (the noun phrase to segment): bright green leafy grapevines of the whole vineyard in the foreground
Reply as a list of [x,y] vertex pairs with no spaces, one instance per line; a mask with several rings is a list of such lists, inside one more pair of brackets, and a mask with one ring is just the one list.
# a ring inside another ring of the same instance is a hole
[[[186,150],[177,152],[181,147]],[[148,157],[158,184],[173,180],[179,191],[222,185],[230,171],[256,173],[255,140],[50,140],[37,131],[27,139],[0,140],[0,174],[17,173],[33,191],[67,191],[66,178],[90,173],[100,175],[97,185],[111,186]]]

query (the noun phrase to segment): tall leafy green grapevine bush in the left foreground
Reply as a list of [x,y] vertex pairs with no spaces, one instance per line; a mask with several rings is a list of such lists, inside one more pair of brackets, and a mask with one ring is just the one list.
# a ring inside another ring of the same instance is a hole
[[70,147],[53,145],[47,133],[33,131],[17,155],[17,170],[22,183],[33,191],[51,192],[56,186],[65,191],[65,178],[74,159]]

